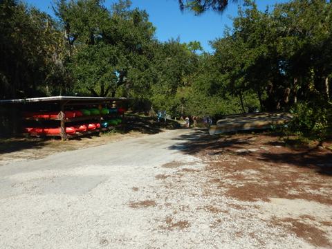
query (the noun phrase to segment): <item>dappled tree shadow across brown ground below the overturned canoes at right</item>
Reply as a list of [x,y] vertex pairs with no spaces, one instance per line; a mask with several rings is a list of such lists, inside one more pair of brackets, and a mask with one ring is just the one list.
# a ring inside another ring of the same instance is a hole
[[[332,152],[319,147],[293,147],[280,140],[276,133],[239,133],[210,136],[208,129],[195,129],[190,134],[174,138],[178,140],[169,149],[185,154],[239,154],[250,160],[293,165],[315,169],[316,172],[332,176]],[[248,149],[253,149],[250,151]]]

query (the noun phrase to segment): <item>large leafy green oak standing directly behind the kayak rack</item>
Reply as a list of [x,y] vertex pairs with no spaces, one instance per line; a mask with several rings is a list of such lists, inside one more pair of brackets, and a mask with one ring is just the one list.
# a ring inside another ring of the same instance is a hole
[[55,4],[79,93],[88,90],[92,95],[115,96],[121,90],[129,97],[133,89],[142,89],[155,28],[145,11],[131,10],[130,4],[119,1],[111,10],[98,0],[59,0]]

